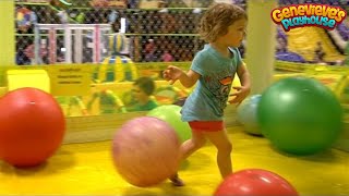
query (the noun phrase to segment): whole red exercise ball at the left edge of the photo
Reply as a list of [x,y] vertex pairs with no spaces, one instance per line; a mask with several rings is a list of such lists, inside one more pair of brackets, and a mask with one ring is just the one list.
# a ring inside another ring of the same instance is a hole
[[65,120],[56,99],[20,88],[0,99],[0,158],[15,167],[43,163],[60,147]]

